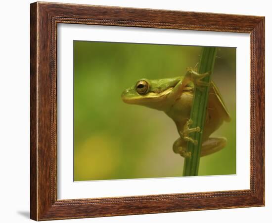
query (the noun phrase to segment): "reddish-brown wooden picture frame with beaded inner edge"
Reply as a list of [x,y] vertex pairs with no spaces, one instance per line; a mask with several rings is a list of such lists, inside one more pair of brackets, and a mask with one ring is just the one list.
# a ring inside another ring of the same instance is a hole
[[[35,2],[31,4],[31,219],[36,221],[265,205],[265,18]],[[250,189],[57,199],[57,24],[250,34]]]

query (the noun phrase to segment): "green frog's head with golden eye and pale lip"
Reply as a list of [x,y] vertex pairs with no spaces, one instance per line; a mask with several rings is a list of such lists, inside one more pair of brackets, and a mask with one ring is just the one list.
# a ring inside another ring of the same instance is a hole
[[181,77],[166,79],[140,79],[122,93],[122,100],[128,104],[165,110],[169,105],[168,95]]

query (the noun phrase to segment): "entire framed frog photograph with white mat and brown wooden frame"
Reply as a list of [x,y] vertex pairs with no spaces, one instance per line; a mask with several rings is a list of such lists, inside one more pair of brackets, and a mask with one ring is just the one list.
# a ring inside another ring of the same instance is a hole
[[31,4],[31,219],[265,205],[265,18]]

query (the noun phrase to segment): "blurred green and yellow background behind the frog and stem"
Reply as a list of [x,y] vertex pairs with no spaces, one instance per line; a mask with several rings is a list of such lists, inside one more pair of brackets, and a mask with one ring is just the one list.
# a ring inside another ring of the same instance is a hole
[[[164,112],[121,100],[140,78],[184,75],[200,46],[74,41],[74,181],[181,177],[179,134]],[[236,173],[236,49],[218,49],[213,81],[232,118],[212,136],[227,147],[200,159],[199,175]]]

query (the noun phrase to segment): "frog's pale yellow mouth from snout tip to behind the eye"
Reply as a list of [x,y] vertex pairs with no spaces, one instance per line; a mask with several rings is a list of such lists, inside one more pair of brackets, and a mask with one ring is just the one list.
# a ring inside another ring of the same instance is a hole
[[165,91],[162,92],[148,92],[145,95],[133,95],[130,96],[129,90],[126,90],[122,94],[123,102],[127,104],[136,104],[136,105],[145,105],[152,102],[159,102],[163,100],[171,91],[173,87],[167,88]]

